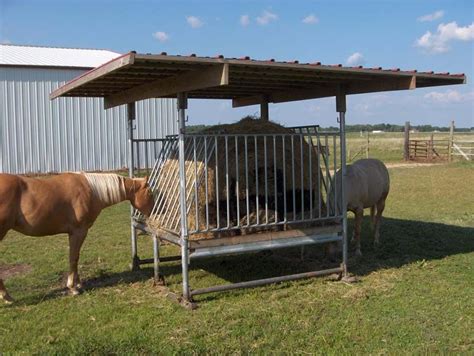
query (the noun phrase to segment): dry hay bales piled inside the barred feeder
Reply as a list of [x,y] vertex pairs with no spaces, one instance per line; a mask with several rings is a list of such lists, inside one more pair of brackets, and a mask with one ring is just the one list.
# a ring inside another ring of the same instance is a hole
[[[321,189],[317,186],[318,174],[321,178],[323,175],[319,171],[316,150],[303,136],[283,137],[282,135],[294,132],[271,121],[250,118],[234,124],[212,126],[200,134],[211,136],[207,137],[206,142],[202,136],[195,138],[188,136],[185,141],[187,221],[190,232],[216,227],[245,227],[254,225],[257,221],[260,224],[281,222],[284,219],[285,200],[287,220],[309,218],[311,201],[313,216],[317,216],[318,195],[321,210],[325,210]],[[255,136],[247,136],[245,139],[246,134],[262,136],[258,136],[257,139]],[[265,137],[263,134],[270,136]],[[272,136],[273,134],[276,136]],[[240,136],[236,139],[236,136],[226,135]],[[193,145],[196,147],[196,161]],[[157,218],[149,221],[149,225],[153,228],[178,232],[180,214],[177,152],[164,163],[160,177],[155,190],[157,200],[162,200],[163,204],[158,209]],[[227,196],[229,196],[228,202]],[[265,209],[265,206],[268,208]],[[324,211],[322,213],[324,214]],[[280,226],[274,227],[274,229],[280,228]],[[249,233],[245,230],[248,228],[219,234],[201,233],[191,237],[208,238]],[[256,230],[259,229],[252,228],[253,232]]]

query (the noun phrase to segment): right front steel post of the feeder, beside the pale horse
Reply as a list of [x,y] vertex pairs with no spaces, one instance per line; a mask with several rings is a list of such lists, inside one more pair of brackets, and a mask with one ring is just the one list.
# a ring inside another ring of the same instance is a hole
[[[341,203],[342,203],[342,269],[343,277],[347,276],[347,201],[346,201],[346,94],[343,88],[339,87],[336,96],[336,110],[339,113],[339,136],[341,145]],[[337,203],[336,203],[337,206]]]

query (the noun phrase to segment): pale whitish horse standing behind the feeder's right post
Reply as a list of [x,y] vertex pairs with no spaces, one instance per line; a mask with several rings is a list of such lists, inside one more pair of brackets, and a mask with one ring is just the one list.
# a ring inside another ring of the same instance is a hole
[[[341,176],[342,172],[338,170],[336,173],[338,196],[341,196]],[[347,166],[345,182],[347,210],[355,215],[352,240],[356,244],[356,255],[361,256],[360,231],[364,209],[370,208],[374,245],[377,245],[380,237],[380,220],[390,190],[390,177],[387,167],[378,159],[361,159]],[[334,193],[329,193],[331,203],[334,200],[332,194]]]

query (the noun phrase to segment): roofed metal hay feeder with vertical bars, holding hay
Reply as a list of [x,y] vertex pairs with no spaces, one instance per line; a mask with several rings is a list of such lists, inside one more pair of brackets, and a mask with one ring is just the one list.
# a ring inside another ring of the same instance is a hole
[[[331,176],[346,169],[346,96],[390,90],[463,84],[464,74],[342,67],[218,56],[196,57],[130,52],[66,83],[51,94],[104,97],[105,108],[127,104],[129,174],[134,175],[135,102],[177,98],[179,132],[160,141],[151,173],[156,204],[149,220],[131,212],[132,268],[180,260],[182,296],[255,287],[325,274],[347,275],[345,192],[334,196],[342,211],[328,209]],[[322,97],[336,98],[339,131],[288,129],[269,122],[269,103]],[[233,107],[260,105],[257,121],[214,127],[192,134],[186,130],[188,99],[227,99]],[[332,197],[331,197],[332,201]],[[137,229],[153,238],[153,258],[140,259]],[[179,256],[160,259],[160,241],[180,247]],[[194,259],[255,252],[329,241],[342,242],[335,268],[191,288]]]

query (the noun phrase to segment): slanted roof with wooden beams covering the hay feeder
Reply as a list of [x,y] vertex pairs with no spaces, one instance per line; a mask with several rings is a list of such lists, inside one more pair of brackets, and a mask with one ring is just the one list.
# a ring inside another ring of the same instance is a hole
[[316,63],[127,53],[66,83],[51,94],[98,96],[106,108],[152,97],[232,99],[233,106],[336,95],[464,84],[464,74],[343,67]]

